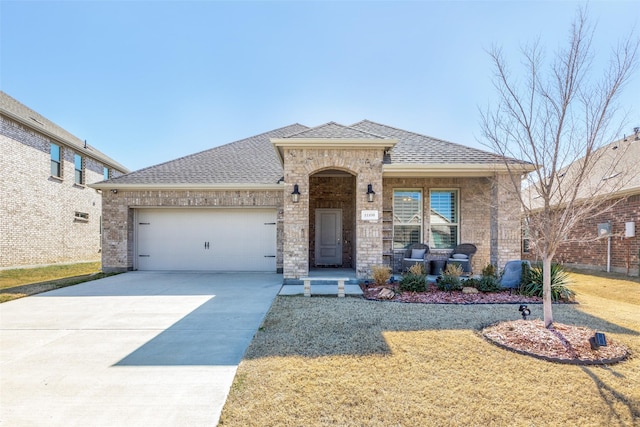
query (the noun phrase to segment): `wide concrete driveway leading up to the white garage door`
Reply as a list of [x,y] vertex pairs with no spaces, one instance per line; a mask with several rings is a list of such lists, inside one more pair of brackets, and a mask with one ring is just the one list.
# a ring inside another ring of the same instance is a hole
[[215,426],[281,284],[130,272],[0,304],[0,425]]

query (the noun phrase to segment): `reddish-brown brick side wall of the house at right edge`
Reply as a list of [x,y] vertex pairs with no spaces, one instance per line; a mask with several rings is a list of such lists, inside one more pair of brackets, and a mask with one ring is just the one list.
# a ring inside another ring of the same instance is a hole
[[[611,203],[615,204],[611,209],[601,209],[606,213],[585,218],[576,226],[568,236],[567,242],[560,246],[554,262],[578,269],[606,271],[608,239],[597,238],[597,227],[599,223],[611,222],[613,236],[611,237],[610,271],[632,276],[638,275],[640,194],[615,199]],[[636,236],[625,238],[625,223],[631,221],[636,223]],[[570,242],[576,239],[582,241]],[[523,256],[532,261],[537,260],[534,249]]]

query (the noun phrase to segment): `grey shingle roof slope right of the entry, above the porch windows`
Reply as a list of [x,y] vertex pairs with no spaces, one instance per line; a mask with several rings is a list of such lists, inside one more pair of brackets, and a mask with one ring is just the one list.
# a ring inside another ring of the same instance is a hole
[[[486,174],[504,171],[505,158],[488,151],[478,150],[454,142],[397,129],[369,120],[351,125],[351,128],[388,138],[396,138],[398,144],[389,151],[386,159],[385,176],[406,173],[436,174],[442,176],[450,171],[453,175]],[[507,158],[514,169],[533,170],[533,165],[517,159]],[[466,172],[465,172],[466,171]]]

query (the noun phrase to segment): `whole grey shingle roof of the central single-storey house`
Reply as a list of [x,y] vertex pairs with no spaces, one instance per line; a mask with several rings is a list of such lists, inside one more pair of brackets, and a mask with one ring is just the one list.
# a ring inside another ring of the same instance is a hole
[[[397,144],[386,156],[387,164],[502,163],[487,151],[363,120],[351,126],[329,122],[309,128],[293,124],[250,138],[215,147],[109,180],[125,185],[225,185],[277,184],[282,165],[271,138],[277,139],[392,139]],[[525,163],[513,160],[513,163]]]

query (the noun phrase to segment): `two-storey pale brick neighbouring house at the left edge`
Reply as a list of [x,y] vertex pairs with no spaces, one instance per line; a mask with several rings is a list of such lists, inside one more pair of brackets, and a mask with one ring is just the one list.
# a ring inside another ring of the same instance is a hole
[[99,261],[100,192],[128,170],[0,92],[0,268]]

